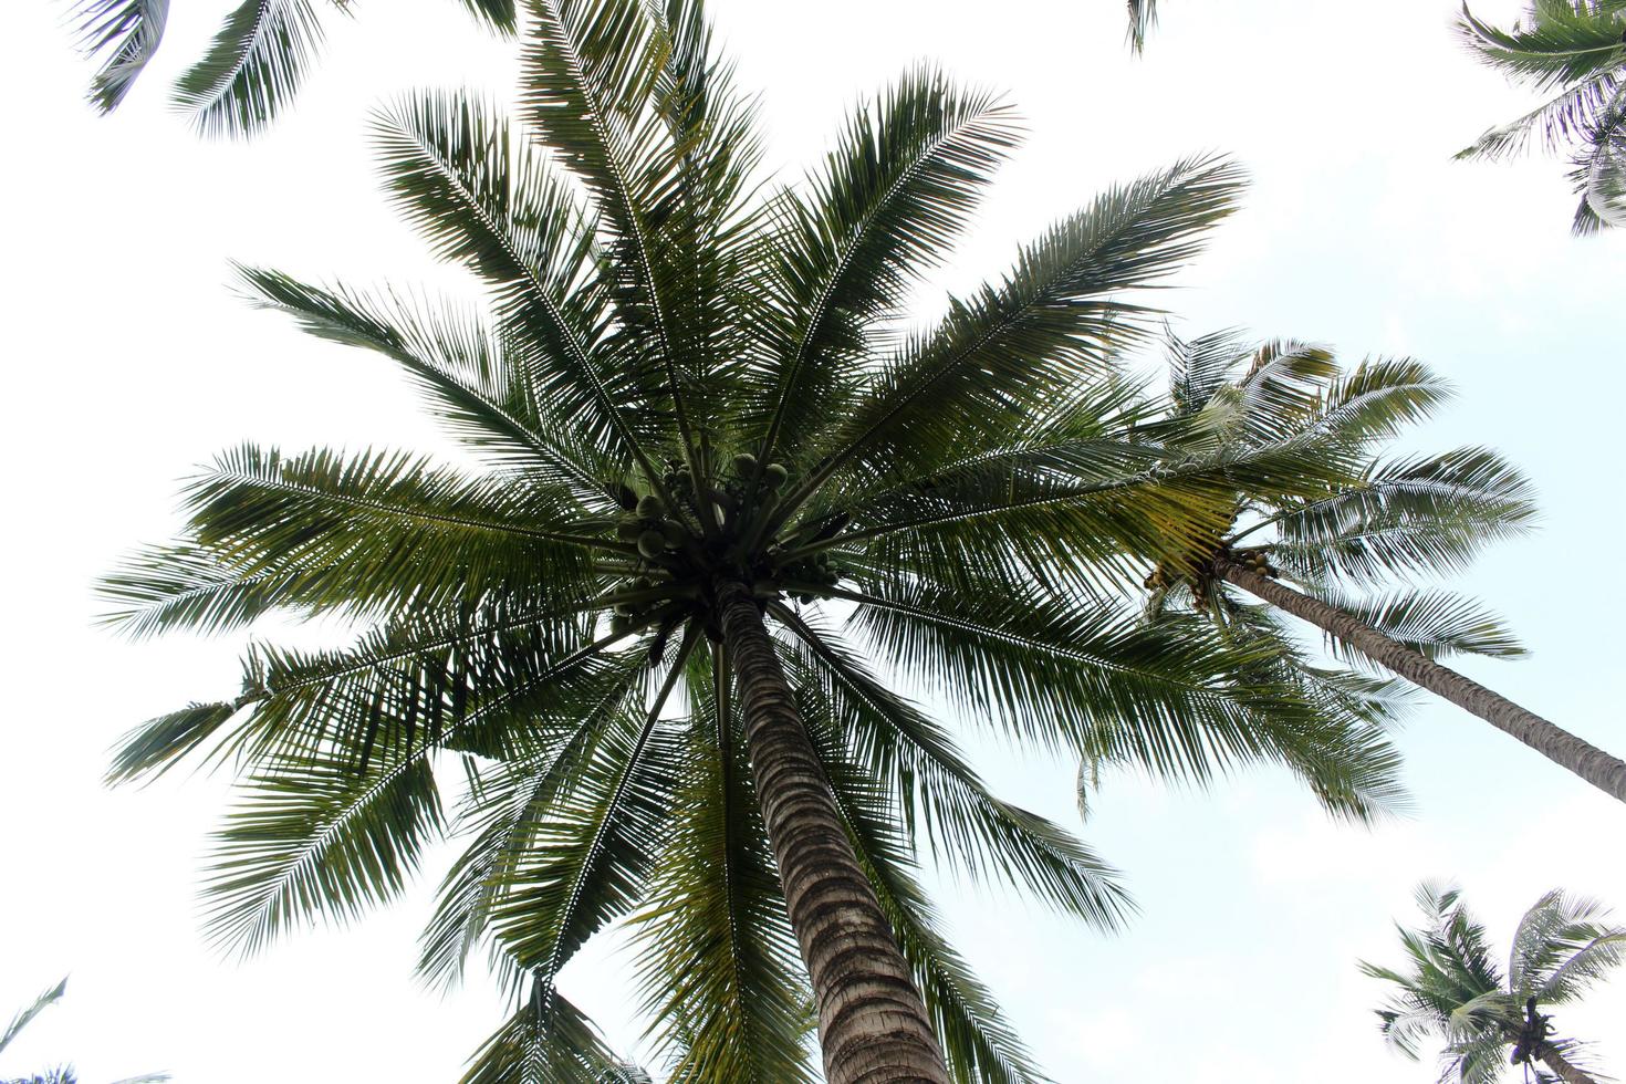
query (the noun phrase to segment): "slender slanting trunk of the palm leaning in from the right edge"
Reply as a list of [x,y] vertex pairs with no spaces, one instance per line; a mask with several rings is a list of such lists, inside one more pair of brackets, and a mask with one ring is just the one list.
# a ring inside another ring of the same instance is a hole
[[1603,793],[1626,801],[1626,762],[1621,762],[1618,757],[1582,741],[1535,712],[1527,712],[1476,681],[1463,678],[1455,670],[1441,666],[1405,644],[1397,644],[1372,626],[1356,621],[1319,598],[1311,598],[1236,562],[1223,561],[1216,572],[1226,582],[1236,583],[1272,606],[1285,609],[1294,618],[1302,618],[1322,632],[1338,637],[1350,647],[1359,648],[1363,655],[1387,666],[1402,678],[1446,697],[1467,712],[1473,712],[1491,726],[1512,735]]

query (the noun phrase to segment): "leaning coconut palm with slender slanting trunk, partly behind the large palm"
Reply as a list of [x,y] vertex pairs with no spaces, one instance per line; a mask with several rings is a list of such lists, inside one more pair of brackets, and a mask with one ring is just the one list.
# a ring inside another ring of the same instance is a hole
[[[1171,333],[1167,364],[1163,418],[1143,427],[1145,439],[1197,463],[1254,460],[1255,476],[1267,473],[1262,458],[1281,452],[1294,453],[1294,470],[1302,471],[1301,460],[1314,450],[1307,458],[1322,492],[1237,488],[1229,527],[1146,579],[1154,614],[1174,592],[1176,601],[1237,635],[1275,640],[1280,650],[1268,665],[1280,678],[1299,674],[1317,696],[1348,697],[1351,676],[1325,687],[1328,674],[1307,668],[1275,614],[1244,606],[1231,592],[1241,588],[1314,624],[1345,657],[1377,663],[1473,712],[1626,801],[1626,762],[1437,661],[1452,653],[1522,653],[1480,603],[1415,588],[1346,593],[1460,569],[1486,544],[1525,531],[1535,517],[1525,478],[1486,449],[1382,458],[1390,439],[1449,398],[1446,382],[1413,359],[1367,361],[1341,372],[1324,348],[1255,346],[1233,332],[1192,341]],[[1298,476],[1293,484],[1307,481]]]

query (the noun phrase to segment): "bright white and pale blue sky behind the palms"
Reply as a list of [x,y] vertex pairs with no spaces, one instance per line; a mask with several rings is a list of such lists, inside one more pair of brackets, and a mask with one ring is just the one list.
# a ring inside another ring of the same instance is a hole
[[[207,145],[164,91],[228,0],[177,0],[161,60],[94,119],[65,3],[11,3],[0,36],[8,166],[0,306],[8,385],[0,470],[13,570],[0,627],[0,1017],[70,973],[0,1074],[76,1060],[86,1084],[169,1069],[180,1084],[457,1077],[498,1024],[472,982],[411,978],[429,894],[249,962],[202,943],[195,884],[220,780],[101,788],[106,749],[141,718],[233,694],[241,639],[130,645],[93,627],[89,585],[174,525],[176,481],[244,439],[288,449],[389,444],[450,455],[387,362],[299,336],[224,288],[226,262],[356,283],[444,283],[379,198],[364,125],[410,86],[511,88],[507,50],[447,0],[358,5],[296,114],[255,145]],[[1008,88],[1031,137],[945,275],[1000,273],[1013,245],[1111,180],[1205,150],[1244,161],[1247,210],[1167,304],[1187,332],[1242,325],[1416,354],[1460,401],[1419,436],[1486,442],[1535,478],[1543,531],[1459,587],[1535,658],[1467,663],[1504,694],[1626,752],[1616,574],[1626,234],[1576,241],[1558,163],[1450,159],[1528,107],[1449,31],[1452,0],[1167,0],[1145,60],[1120,0],[714,0],[745,86],[763,89],[769,164],[787,177],[849,102],[917,59]],[[1502,18],[1512,0],[1483,3]],[[1354,962],[1397,959],[1423,878],[1457,878],[1499,943],[1554,886],[1626,912],[1626,809],[1447,705],[1400,736],[1411,819],[1337,826],[1281,774],[1205,795],[1112,778],[1081,830],[1143,905],[1125,934],[966,886],[940,904],[1062,1084],[1433,1081],[1390,1055]],[[1072,764],[974,744],[1002,793],[1076,824]],[[424,889],[444,866],[426,871]],[[623,1048],[623,957],[566,972]],[[1558,1024],[1626,1073],[1626,977]]]

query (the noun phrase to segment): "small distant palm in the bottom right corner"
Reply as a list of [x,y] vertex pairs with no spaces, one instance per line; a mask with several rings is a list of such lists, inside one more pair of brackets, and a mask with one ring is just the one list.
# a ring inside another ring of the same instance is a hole
[[1541,1009],[1572,1004],[1626,959],[1626,928],[1608,925],[1592,900],[1548,892],[1519,920],[1504,977],[1457,889],[1424,884],[1416,899],[1428,926],[1400,928],[1406,973],[1361,964],[1366,975],[1400,988],[1377,1011],[1384,1037],[1410,1058],[1423,1038],[1442,1037],[1441,1081],[1493,1084],[1506,1064],[1528,1069],[1540,1061],[1553,1073],[1538,1071],[1541,1081],[1595,1084],[1597,1069],[1574,1063],[1579,1043],[1556,1038]]

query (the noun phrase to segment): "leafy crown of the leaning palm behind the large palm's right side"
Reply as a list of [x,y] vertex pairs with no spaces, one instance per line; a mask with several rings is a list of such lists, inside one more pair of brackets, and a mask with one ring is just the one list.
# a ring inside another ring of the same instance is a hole
[[[1270,661],[1315,684],[1332,681],[1325,692],[1354,694],[1351,705],[1366,700],[1364,710],[1377,717],[1392,705],[1389,683],[1372,686],[1351,671],[1309,665],[1281,619],[1246,601],[1216,574],[1215,561],[1294,580],[1429,658],[1525,653],[1473,600],[1395,588],[1397,580],[1455,572],[1485,546],[1527,531],[1535,518],[1528,481],[1489,449],[1385,455],[1393,437],[1450,397],[1444,380],[1410,358],[1371,359],[1345,371],[1325,348],[1255,345],[1236,332],[1190,341],[1169,335],[1166,358],[1169,393],[1158,421],[1143,427],[1148,439],[1197,462],[1317,449],[1315,478],[1324,491],[1283,499],[1239,488],[1231,523],[1206,551],[1166,561],[1146,579],[1153,616],[1174,605],[1241,634],[1276,639]],[[1351,593],[1351,587],[1379,593]],[[1328,647],[1351,655],[1337,639]]]

